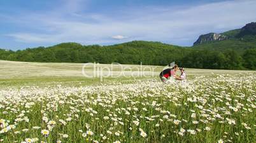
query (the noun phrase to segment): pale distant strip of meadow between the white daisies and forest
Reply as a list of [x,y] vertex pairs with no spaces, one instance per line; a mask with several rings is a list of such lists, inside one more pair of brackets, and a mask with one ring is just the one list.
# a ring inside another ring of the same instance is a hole
[[[99,85],[109,84],[112,82],[136,82],[137,80],[151,80],[158,79],[160,71],[164,66],[146,66],[142,65],[145,69],[145,75],[149,77],[134,77],[131,78],[132,72],[137,71],[140,65],[124,65],[124,68],[131,68],[131,71],[126,70],[124,76],[118,78],[86,78],[82,74],[82,63],[30,63],[30,62],[17,62],[17,61],[1,61],[0,60],[0,87],[22,87],[22,86],[45,86],[45,85],[67,85],[67,86],[80,86],[80,85]],[[111,65],[97,65],[98,67],[110,67]],[[153,68],[152,72],[149,68]],[[88,73],[92,74],[93,66],[85,68]],[[113,66],[114,71],[118,75],[120,72],[119,66]],[[255,71],[243,71],[243,70],[206,70],[206,69],[186,69],[188,80],[200,75],[212,75],[215,74],[247,74],[255,73]],[[103,70],[103,74],[106,70]],[[153,77],[151,76],[153,75]]]

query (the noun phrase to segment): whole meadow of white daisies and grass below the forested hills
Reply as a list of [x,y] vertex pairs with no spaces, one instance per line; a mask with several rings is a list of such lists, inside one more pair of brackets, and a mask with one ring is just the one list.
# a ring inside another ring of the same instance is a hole
[[0,63],[0,142],[256,140],[255,71],[188,69],[186,82],[162,83],[158,73],[99,81],[80,64]]

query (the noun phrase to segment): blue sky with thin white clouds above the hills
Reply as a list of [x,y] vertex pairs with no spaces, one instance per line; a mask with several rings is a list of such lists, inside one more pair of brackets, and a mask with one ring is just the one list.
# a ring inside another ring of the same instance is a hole
[[0,48],[153,40],[192,46],[201,34],[256,21],[256,1],[1,0]]

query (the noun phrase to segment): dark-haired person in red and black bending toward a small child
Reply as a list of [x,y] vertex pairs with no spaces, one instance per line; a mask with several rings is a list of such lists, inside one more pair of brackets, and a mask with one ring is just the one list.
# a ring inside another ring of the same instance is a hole
[[176,80],[182,80],[182,78],[176,76],[176,71],[178,69],[179,69],[178,65],[174,65],[173,68],[167,68],[161,71],[159,77],[162,80],[162,82],[166,82],[166,80],[169,79],[170,77],[173,77]]

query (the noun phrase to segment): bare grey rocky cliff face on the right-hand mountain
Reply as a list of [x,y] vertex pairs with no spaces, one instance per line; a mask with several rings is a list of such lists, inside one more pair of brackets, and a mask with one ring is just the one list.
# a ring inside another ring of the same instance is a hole
[[204,34],[200,35],[199,38],[194,42],[195,45],[203,44],[206,42],[214,41],[214,40],[225,40],[228,37],[225,35],[217,34],[217,33],[209,33],[209,34]]

